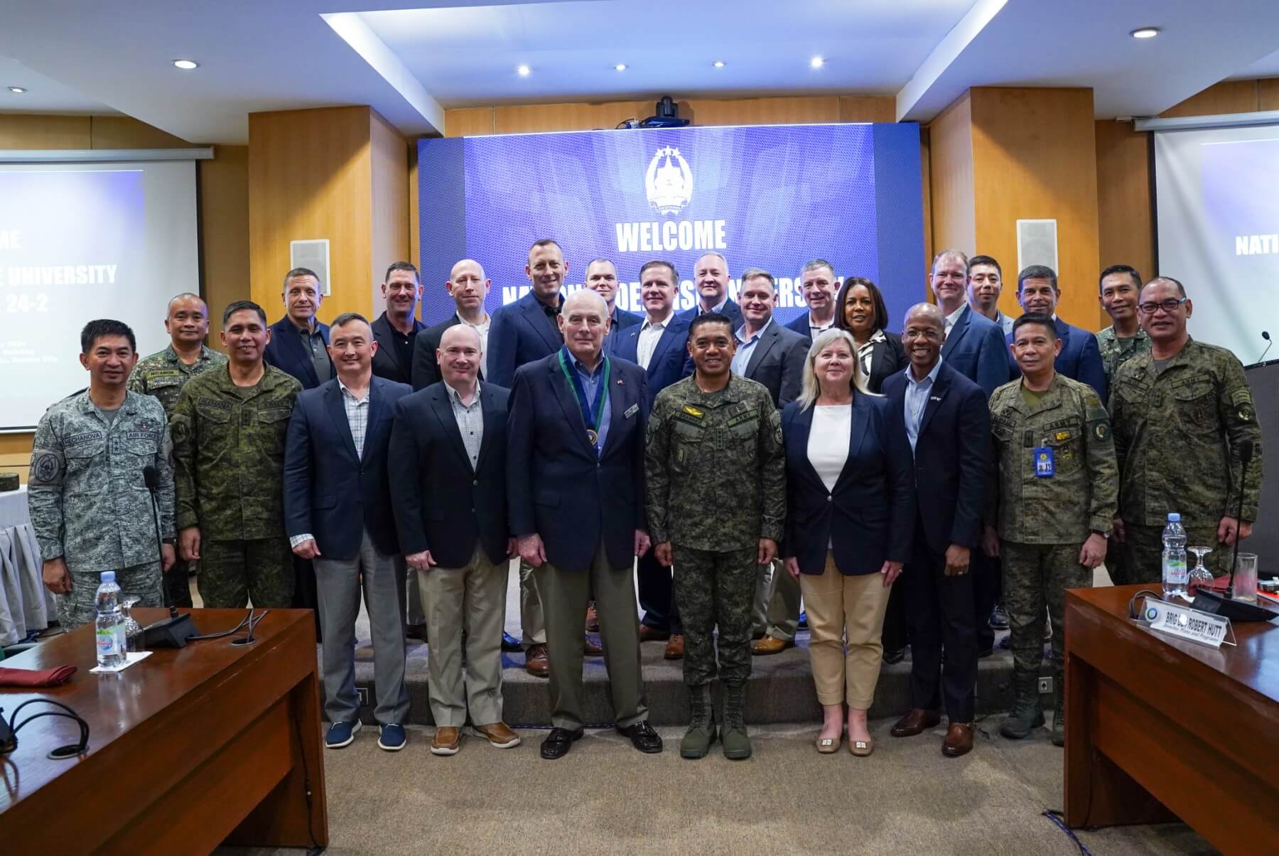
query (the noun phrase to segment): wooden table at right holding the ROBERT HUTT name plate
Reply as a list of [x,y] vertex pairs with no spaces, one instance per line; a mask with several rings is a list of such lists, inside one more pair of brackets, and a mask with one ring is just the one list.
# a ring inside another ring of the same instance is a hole
[[1181,641],[1128,619],[1142,587],[1065,595],[1065,823],[1181,819],[1223,852],[1275,852],[1279,626]]

